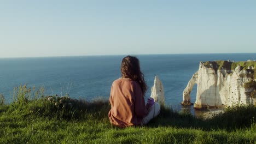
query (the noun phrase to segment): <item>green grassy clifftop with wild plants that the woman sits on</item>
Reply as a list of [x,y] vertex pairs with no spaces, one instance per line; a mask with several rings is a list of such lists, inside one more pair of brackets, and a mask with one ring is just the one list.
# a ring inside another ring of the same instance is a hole
[[256,143],[255,106],[229,107],[211,119],[162,106],[148,125],[118,128],[106,100],[47,100],[35,98],[37,91],[21,86],[13,103],[0,106],[0,143]]

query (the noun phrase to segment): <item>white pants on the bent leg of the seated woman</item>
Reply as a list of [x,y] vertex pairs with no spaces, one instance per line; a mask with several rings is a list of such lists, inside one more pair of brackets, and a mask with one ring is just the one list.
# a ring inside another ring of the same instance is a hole
[[142,125],[147,124],[151,119],[158,116],[160,113],[160,105],[155,103],[149,108],[148,115],[142,119]]

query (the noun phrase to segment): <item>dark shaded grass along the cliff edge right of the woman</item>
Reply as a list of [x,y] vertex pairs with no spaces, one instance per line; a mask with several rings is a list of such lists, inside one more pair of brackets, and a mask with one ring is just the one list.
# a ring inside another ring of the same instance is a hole
[[149,122],[148,127],[200,128],[202,130],[235,130],[249,128],[255,124],[256,107],[242,105],[229,107],[225,112],[215,114],[212,118],[197,118],[189,112],[177,112],[161,106],[158,117]]

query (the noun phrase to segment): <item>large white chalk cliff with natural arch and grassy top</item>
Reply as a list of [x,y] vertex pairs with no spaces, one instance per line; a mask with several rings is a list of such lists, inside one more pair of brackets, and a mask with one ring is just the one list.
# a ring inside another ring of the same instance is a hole
[[[200,62],[183,91],[183,104],[190,103],[190,92],[197,84],[197,109],[256,104],[256,62]],[[254,73],[255,71],[255,73]]]

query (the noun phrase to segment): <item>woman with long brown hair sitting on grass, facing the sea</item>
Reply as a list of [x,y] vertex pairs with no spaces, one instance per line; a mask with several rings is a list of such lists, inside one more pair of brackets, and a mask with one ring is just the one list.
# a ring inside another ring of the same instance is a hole
[[119,127],[147,124],[159,114],[160,105],[152,98],[145,105],[147,85],[136,57],[123,58],[121,76],[113,82],[110,91],[110,123]]

